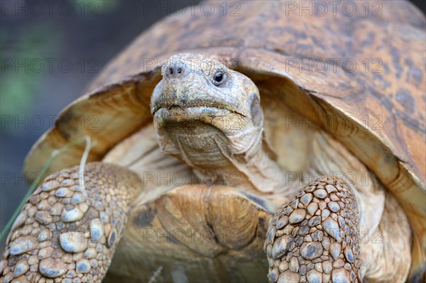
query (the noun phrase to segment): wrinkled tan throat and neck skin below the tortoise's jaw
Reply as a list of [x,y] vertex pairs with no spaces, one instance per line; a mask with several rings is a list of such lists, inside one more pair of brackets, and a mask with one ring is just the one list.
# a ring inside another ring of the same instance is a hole
[[163,152],[190,165],[201,184],[224,184],[269,193],[283,187],[284,174],[268,153],[263,127],[226,134],[207,123],[191,121],[158,131]]

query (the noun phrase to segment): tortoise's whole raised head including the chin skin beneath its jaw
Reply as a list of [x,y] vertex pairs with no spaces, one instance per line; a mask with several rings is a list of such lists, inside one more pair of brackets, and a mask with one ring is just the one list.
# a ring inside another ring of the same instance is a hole
[[195,54],[170,57],[161,72],[151,113],[164,152],[207,170],[261,146],[263,112],[251,79]]

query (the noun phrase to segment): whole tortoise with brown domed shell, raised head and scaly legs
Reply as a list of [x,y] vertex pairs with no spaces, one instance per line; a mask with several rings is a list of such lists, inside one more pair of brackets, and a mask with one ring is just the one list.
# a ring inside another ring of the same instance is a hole
[[205,2],[142,33],[28,154],[96,143],[83,176],[83,145],[50,164],[1,282],[425,280],[425,16],[375,3]]

